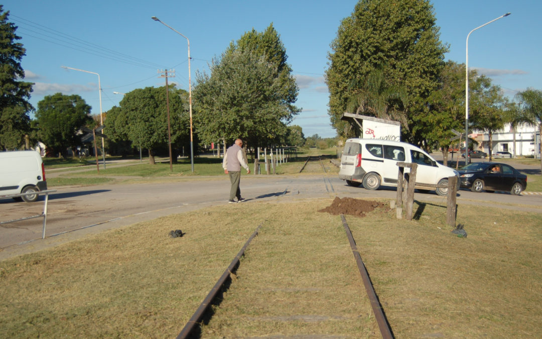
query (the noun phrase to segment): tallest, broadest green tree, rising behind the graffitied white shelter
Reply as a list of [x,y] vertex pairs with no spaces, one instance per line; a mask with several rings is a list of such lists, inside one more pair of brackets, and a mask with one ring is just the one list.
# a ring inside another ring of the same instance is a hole
[[[439,40],[435,21],[429,0],[360,0],[341,21],[326,71],[329,114],[339,136],[346,136],[340,116],[356,93],[385,98],[384,89],[395,88],[398,93],[397,89],[404,88],[405,100],[383,102],[389,112],[403,111],[406,125],[402,132],[407,139],[418,144],[424,140],[424,106],[438,87],[448,50]],[[366,78],[378,69],[385,81],[371,88],[373,82]],[[401,107],[401,103],[408,106]]]

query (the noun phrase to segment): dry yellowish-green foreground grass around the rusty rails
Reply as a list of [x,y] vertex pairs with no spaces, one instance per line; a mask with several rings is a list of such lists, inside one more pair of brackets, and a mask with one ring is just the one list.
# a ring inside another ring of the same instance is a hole
[[[261,223],[202,337],[379,337],[330,204],[211,207],[1,261],[0,332],[175,336]],[[445,207],[415,210],[346,216],[395,336],[542,337],[540,215],[460,205],[457,238]]]

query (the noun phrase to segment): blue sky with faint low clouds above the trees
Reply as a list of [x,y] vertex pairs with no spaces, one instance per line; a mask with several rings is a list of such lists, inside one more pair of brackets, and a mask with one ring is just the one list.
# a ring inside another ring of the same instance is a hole
[[[175,70],[178,88],[189,90],[188,41],[192,88],[196,72],[209,73],[213,57],[230,42],[273,23],[287,62],[299,86],[295,105],[302,112],[292,124],[306,137],[334,137],[327,114],[324,81],[330,44],[341,20],[357,0],[198,0],[71,1],[4,0],[8,21],[27,49],[21,65],[25,80],[35,82],[30,103],[58,92],[78,94],[100,114],[118,105],[136,88],[164,86],[159,71]],[[511,15],[474,31],[469,37],[468,65],[489,76],[506,95],[528,87],[542,89],[542,2],[539,0],[433,0],[440,39],[449,45],[446,60],[464,63],[469,31],[507,12]]]

